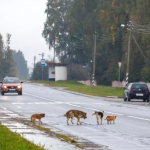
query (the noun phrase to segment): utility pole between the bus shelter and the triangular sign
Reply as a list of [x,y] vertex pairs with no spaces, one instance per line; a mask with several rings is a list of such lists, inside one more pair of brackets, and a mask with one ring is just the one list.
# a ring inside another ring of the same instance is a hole
[[95,41],[94,41],[94,55],[93,55],[93,77],[92,77],[92,86],[95,86],[95,58],[96,58],[96,32],[95,32]]

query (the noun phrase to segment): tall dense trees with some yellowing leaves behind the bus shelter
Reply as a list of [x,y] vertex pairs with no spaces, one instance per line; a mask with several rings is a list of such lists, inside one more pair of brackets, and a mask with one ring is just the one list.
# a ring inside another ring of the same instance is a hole
[[88,76],[96,39],[96,81],[111,85],[118,80],[118,62],[125,80],[129,29],[121,24],[131,21],[129,82],[149,82],[149,6],[149,0],[47,0],[42,35],[60,62],[87,67]]

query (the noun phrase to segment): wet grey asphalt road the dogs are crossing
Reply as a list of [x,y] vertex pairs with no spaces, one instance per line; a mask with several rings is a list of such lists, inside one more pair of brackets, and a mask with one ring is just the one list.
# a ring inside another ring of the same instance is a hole
[[[146,106],[145,106],[146,105]],[[123,102],[122,100],[87,97],[55,90],[49,87],[23,84],[23,95],[5,94],[0,96],[0,106],[24,117],[34,113],[45,113],[43,123],[49,124],[73,135],[88,139],[113,150],[150,149],[150,104]],[[87,112],[82,125],[68,126],[63,116],[70,109]],[[93,111],[105,111],[116,115],[115,124],[97,125]]]

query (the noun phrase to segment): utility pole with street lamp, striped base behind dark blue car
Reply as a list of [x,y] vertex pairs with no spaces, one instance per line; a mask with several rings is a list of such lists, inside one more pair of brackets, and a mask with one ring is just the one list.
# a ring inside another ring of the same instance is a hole
[[126,70],[126,86],[129,83],[129,63],[130,63],[130,44],[131,44],[131,21],[129,22],[129,39],[128,39],[128,53],[127,53],[127,70]]

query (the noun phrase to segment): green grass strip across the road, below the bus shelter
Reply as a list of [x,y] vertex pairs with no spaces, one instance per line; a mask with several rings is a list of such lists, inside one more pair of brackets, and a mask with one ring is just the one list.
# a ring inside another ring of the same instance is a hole
[[46,86],[67,87],[66,90],[79,92],[93,96],[118,96],[123,97],[123,88],[114,88],[111,86],[86,86],[76,81],[32,81],[32,83],[43,83]]

